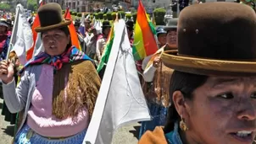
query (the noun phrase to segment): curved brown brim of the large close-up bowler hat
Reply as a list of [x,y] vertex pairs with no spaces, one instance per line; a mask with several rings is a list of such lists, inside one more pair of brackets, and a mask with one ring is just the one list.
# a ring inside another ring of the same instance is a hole
[[164,51],[164,65],[180,72],[207,76],[256,76],[256,60],[224,61],[179,56],[178,51]]

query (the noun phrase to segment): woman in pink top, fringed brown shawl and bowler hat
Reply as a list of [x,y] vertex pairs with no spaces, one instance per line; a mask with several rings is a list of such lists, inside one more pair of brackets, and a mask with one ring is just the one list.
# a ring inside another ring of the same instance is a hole
[[58,3],[38,8],[45,52],[25,64],[15,90],[14,67],[1,61],[3,96],[12,113],[24,110],[15,144],[82,143],[92,118],[100,78],[91,59],[71,46]]

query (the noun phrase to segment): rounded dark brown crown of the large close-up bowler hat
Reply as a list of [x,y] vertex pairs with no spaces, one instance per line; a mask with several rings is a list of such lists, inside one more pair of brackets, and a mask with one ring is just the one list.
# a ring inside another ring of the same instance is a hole
[[203,3],[181,11],[178,23],[179,55],[251,60],[256,58],[255,39],[255,12],[246,5]]

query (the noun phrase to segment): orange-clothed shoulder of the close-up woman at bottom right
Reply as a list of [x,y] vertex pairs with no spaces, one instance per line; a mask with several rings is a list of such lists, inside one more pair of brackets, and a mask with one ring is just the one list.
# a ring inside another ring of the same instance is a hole
[[157,126],[154,131],[146,131],[138,144],[167,144],[163,127]]

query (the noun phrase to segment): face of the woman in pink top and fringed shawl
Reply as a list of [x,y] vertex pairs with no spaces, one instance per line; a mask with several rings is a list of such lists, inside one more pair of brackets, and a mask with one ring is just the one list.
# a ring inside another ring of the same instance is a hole
[[70,36],[60,29],[53,29],[42,33],[42,44],[50,56],[61,55],[70,42]]

